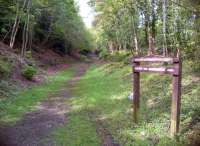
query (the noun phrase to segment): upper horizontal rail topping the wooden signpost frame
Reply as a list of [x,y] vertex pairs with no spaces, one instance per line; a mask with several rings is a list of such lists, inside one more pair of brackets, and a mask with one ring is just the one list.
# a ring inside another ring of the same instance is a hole
[[171,57],[135,57],[133,58],[133,62],[179,62],[178,58],[171,58]]

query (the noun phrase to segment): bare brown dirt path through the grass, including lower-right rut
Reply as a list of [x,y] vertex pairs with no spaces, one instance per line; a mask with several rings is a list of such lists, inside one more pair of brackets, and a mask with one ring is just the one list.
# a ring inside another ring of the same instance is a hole
[[[76,74],[61,88],[58,93],[50,93],[49,98],[37,106],[37,111],[25,115],[17,124],[0,128],[0,146],[55,146],[51,140],[51,132],[67,123],[66,113],[70,110],[66,99],[70,98],[70,90],[89,68],[89,63],[75,64]],[[103,146],[113,144],[111,135],[97,123],[97,132]],[[45,141],[44,141],[45,140]]]

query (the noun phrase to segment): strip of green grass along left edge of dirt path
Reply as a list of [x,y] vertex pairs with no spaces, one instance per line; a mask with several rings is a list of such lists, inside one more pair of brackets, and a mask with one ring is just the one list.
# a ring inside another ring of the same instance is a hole
[[26,113],[35,110],[35,106],[42,100],[48,98],[48,94],[57,92],[66,84],[74,70],[69,69],[49,76],[47,82],[37,85],[31,89],[20,92],[16,97],[0,100],[0,121],[3,123],[15,123]]

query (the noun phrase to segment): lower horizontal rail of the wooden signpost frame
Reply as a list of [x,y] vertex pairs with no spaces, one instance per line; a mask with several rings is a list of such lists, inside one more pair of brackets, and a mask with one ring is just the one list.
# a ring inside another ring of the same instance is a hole
[[162,74],[174,74],[175,69],[172,67],[145,67],[135,66],[134,72],[157,72]]

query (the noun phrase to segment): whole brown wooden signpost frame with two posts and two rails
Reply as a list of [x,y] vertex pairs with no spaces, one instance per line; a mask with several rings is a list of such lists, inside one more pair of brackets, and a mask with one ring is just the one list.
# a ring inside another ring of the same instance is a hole
[[[172,64],[172,67],[148,67],[141,66],[141,62],[147,63],[164,63]],[[181,78],[182,78],[182,62],[180,58],[171,57],[134,57],[133,58],[133,111],[134,121],[138,122],[139,107],[140,107],[140,73],[151,72],[170,74],[173,76],[173,89],[172,89],[172,105],[171,105],[171,126],[170,135],[173,137],[179,132],[180,124],[180,106],[181,106]]]

